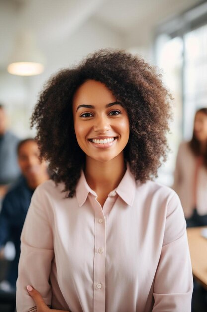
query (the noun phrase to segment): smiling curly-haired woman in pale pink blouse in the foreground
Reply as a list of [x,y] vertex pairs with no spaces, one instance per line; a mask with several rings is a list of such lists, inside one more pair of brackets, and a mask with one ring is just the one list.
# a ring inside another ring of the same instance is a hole
[[152,181],[170,95],[155,69],[101,50],[50,79],[32,115],[53,180],[21,236],[17,312],[190,312],[186,222]]

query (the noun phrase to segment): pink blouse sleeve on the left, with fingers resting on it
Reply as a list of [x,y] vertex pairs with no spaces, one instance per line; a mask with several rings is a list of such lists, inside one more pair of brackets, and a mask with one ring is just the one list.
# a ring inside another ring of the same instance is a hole
[[47,198],[41,190],[36,189],[21,235],[17,312],[36,311],[36,306],[26,290],[29,284],[38,289],[47,305],[51,305],[49,276],[54,251],[48,207]]

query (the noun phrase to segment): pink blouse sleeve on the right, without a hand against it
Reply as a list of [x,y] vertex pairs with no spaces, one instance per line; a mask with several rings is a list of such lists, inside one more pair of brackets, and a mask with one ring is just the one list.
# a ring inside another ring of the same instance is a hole
[[193,290],[186,223],[178,196],[168,203],[164,242],[154,282],[153,312],[190,312]]

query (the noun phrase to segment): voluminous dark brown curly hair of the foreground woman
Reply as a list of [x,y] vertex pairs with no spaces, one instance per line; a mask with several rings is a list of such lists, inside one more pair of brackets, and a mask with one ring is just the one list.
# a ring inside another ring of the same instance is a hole
[[41,156],[49,161],[53,180],[65,183],[73,197],[84,168],[73,127],[72,101],[77,88],[88,79],[104,83],[126,109],[130,137],[125,160],[141,183],[157,176],[169,150],[166,132],[171,118],[171,95],[155,68],[124,51],[100,50],[80,65],[61,70],[45,85],[31,117],[37,125]]

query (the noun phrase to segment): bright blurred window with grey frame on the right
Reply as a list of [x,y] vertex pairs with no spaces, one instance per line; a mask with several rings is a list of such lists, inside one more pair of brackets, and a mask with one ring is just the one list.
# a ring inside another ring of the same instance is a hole
[[170,186],[179,143],[190,140],[195,111],[207,107],[207,2],[158,27],[155,59],[174,97],[168,137],[172,152],[158,179]]

